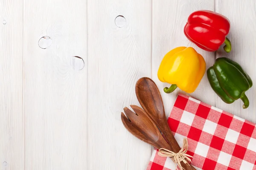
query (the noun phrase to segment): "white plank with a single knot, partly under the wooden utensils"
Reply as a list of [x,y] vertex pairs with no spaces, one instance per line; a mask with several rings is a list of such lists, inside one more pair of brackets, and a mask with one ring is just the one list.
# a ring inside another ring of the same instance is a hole
[[135,84],[151,76],[151,3],[88,0],[88,9],[88,170],[143,170],[151,147],[121,111],[138,105]]

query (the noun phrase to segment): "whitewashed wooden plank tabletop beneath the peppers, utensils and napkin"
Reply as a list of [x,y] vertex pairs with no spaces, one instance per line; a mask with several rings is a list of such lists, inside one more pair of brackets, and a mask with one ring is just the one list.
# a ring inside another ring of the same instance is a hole
[[[230,54],[186,39],[199,9],[230,19]],[[136,81],[151,77],[169,114],[180,91],[163,93],[158,67],[171,49],[192,46],[207,68],[228,57],[256,83],[255,21],[255,0],[1,0],[0,169],[145,170],[152,148],[120,120],[139,105]],[[228,105],[205,74],[190,95],[256,122],[256,85],[246,94],[249,108]]]

